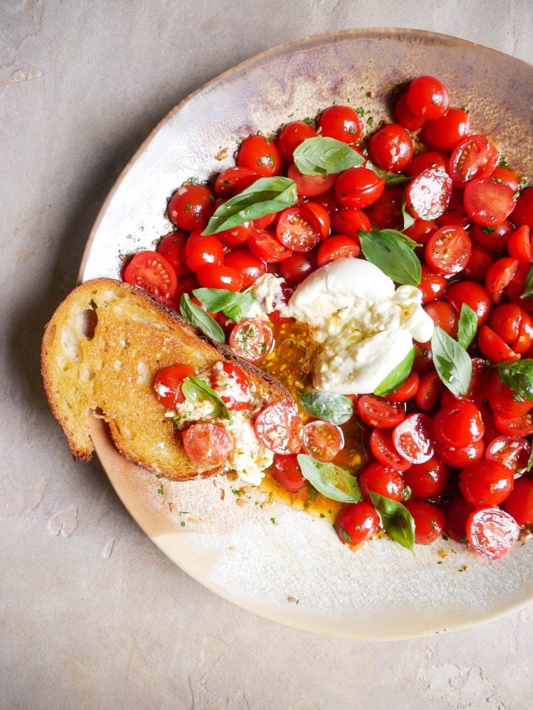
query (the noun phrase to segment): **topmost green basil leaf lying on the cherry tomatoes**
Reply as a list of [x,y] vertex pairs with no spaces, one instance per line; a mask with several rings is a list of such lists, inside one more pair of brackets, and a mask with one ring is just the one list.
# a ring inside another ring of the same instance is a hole
[[306,138],[295,148],[292,157],[302,175],[341,173],[365,162],[363,155],[359,155],[344,141],[326,136]]

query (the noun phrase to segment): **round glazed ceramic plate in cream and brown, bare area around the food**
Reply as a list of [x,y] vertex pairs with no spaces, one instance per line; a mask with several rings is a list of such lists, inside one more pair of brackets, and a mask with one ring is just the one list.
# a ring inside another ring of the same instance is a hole
[[[275,131],[333,102],[390,120],[393,87],[421,74],[471,111],[473,132],[498,136],[510,165],[533,175],[528,145],[533,67],[462,40],[409,30],[345,31],[270,50],[199,89],[161,121],[123,171],[87,244],[80,280],[119,278],[121,254],[169,231],[167,198],[191,176],[231,164],[236,138]],[[489,562],[461,545],[388,540],[357,552],[326,520],[221,479],[160,481],[124,461],[92,422],[101,463],[141,528],[185,572],[264,618],[348,638],[407,638],[471,626],[533,599],[533,545]],[[240,502],[243,501],[243,502]]]

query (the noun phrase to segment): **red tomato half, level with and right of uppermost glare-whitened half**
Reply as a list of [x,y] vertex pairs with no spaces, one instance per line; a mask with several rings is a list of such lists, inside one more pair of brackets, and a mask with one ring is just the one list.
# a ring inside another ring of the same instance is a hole
[[481,226],[498,226],[509,217],[515,207],[513,195],[509,185],[485,178],[467,183],[463,202],[466,213],[473,222]]

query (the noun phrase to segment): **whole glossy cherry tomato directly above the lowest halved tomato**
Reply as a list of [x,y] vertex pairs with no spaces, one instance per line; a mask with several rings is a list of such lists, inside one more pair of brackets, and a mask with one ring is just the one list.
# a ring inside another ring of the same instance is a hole
[[476,461],[459,475],[463,498],[474,508],[498,506],[512,491],[512,471],[499,461]]

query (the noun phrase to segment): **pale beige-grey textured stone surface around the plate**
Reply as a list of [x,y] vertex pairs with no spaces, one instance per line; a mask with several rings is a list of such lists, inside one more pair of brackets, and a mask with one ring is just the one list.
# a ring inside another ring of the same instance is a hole
[[203,589],[76,466],[38,344],[99,205],[192,89],[303,35],[458,35],[533,61],[531,0],[0,0],[0,706],[435,710],[531,706],[533,608],[396,643],[275,626]]

